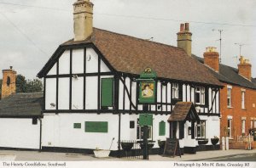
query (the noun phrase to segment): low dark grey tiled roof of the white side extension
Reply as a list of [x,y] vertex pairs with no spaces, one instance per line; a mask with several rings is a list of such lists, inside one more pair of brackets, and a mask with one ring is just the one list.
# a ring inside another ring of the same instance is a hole
[[17,93],[0,101],[0,117],[22,117],[41,115],[43,93]]

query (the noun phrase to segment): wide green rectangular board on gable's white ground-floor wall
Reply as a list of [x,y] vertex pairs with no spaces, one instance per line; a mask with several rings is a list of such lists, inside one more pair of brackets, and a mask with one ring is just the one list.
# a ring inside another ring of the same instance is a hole
[[108,132],[108,122],[102,121],[85,121],[85,132]]

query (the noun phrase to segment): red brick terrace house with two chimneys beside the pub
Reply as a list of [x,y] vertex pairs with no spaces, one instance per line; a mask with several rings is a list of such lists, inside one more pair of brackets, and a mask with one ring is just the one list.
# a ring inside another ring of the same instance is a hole
[[205,64],[223,82],[220,90],[220,137],[230,141],[247,136],[250,128],[256,127],[256,80],[252,78],[252,65],[241,56],[238,69],[219,64],[216,48],[207,48]]

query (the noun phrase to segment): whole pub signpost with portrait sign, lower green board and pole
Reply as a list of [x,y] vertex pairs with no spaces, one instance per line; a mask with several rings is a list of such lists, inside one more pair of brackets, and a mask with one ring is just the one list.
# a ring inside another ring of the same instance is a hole
[[[155,81],[156,74],[151,68],[146,68],[140,75],[139,81],[139,104],[148,105],[155,103]],[[144,109],[145,110],[145,109]],[[143,160],[148,160],[148,126],[153,126],[153,115],[139,115],[139,125],[143,126]]]

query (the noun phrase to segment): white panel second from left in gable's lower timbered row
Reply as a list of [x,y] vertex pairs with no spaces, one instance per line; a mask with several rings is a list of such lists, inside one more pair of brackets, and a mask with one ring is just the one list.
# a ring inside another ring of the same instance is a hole
[[69,77],[59,78],[59,109],[69,109]]

